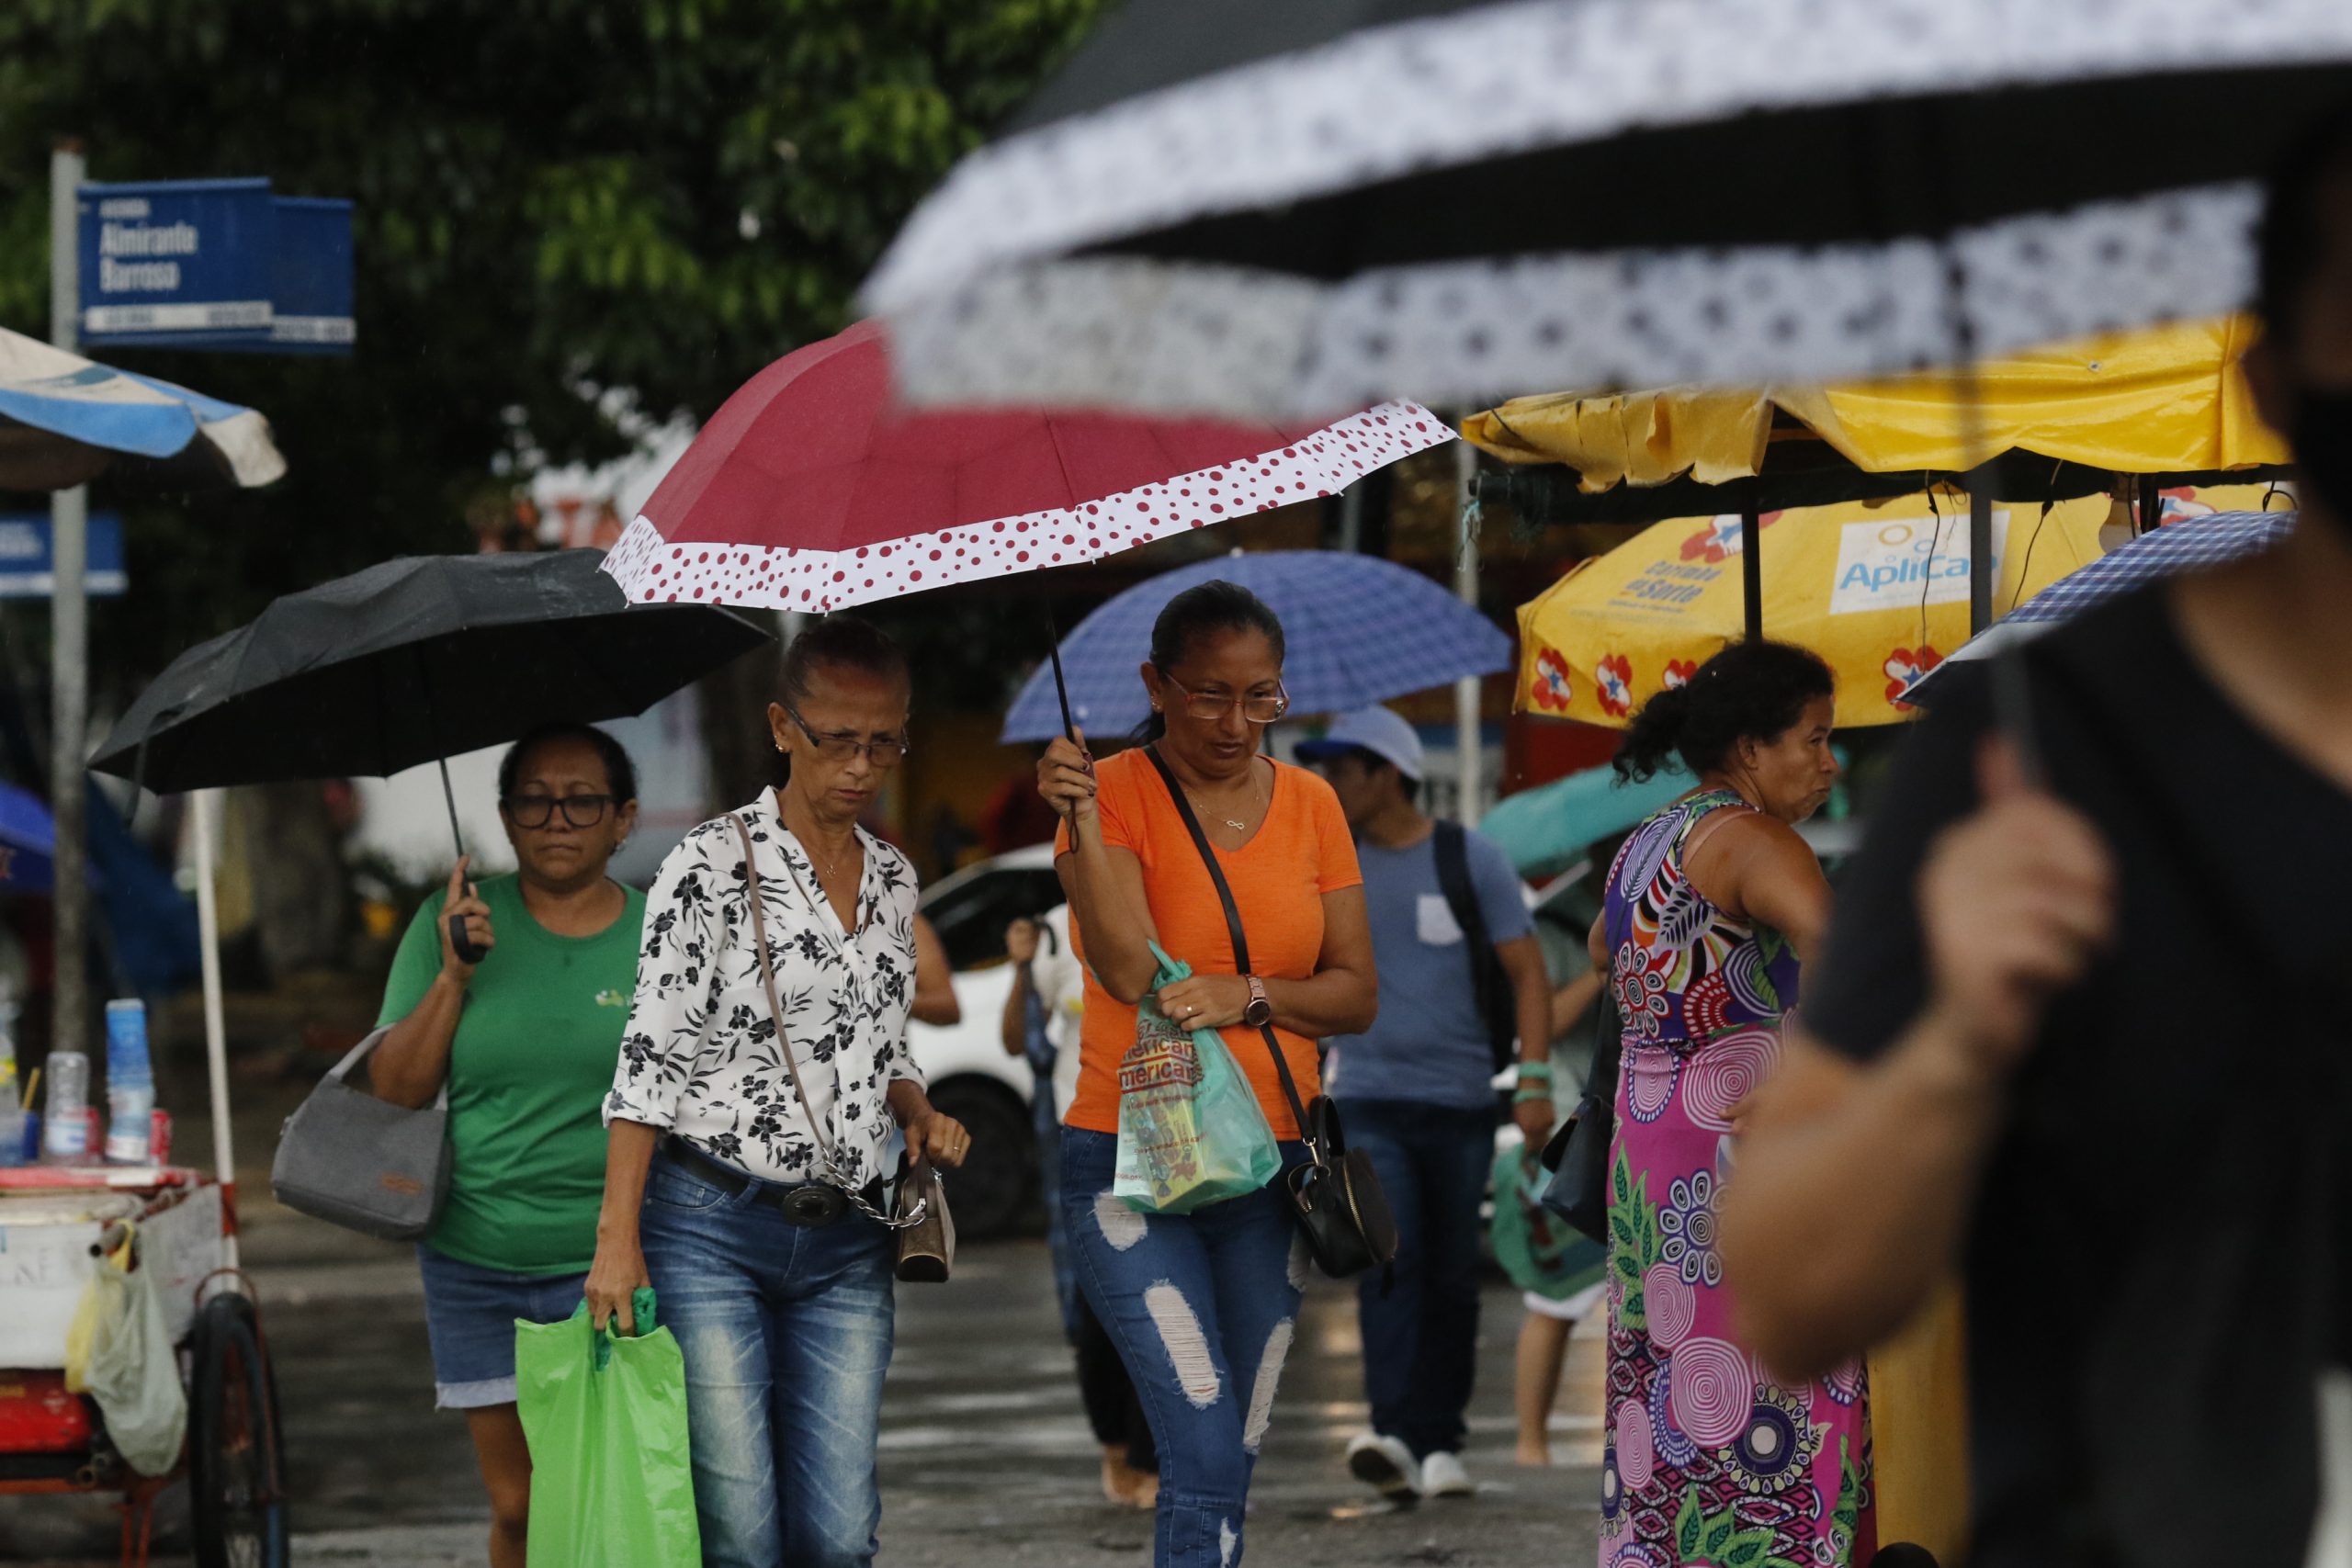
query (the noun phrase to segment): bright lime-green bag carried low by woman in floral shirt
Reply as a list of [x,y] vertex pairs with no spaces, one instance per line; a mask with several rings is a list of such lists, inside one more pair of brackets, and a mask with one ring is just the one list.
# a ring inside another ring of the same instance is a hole
[[515,1321],[515,1406],[532,1446],[529,1568],[703,1561],[687,1450],[687,1361],[630,1302],[637,1333],[604,1333],[588,1302],[562,1324]]

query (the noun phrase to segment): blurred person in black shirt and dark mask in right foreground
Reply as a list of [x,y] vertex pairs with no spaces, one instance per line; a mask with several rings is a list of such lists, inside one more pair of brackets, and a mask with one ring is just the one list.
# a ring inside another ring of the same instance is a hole
[[1776,1366],[1964,1274],[1990,1568],[2352,1561],[2352,113],[2279,165],[2258,256],[2293,534],[1938,701],[1726,1213]]

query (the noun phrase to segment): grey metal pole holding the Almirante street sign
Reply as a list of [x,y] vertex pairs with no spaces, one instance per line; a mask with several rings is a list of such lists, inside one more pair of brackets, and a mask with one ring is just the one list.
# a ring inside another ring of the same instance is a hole
[[[75,346],[82,277],[75,256],[82,190],[80,143],[49,153],[49,341]],[[49,811],[56,816],[56,1011],[52,1046],[89,1048],[89,877],[85,867],[87,799],[82,745],[89,726],[89,599],[82,564],[89,552],[89,489],[75,484],[49,501],[49,550],[56,590],[49,597]]]

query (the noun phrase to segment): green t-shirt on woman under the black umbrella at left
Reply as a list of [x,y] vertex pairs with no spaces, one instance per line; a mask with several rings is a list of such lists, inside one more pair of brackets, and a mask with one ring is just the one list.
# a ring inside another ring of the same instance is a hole
[[[581,1274],[604,1199],[602,1105],[637,990],[644,893],[621,919],[557,936],[532,919],[513,875],[475,882],[496,947],[473,971],[449,1044],[449,1201],[426,1244],[510,1274]],[[407,1018],[440,973],[447,891],[416,910],[379,1025]]]

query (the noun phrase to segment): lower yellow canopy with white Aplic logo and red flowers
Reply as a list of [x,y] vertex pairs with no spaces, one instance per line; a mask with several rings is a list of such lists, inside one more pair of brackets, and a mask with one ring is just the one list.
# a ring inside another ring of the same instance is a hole
[[[2180,491],[2216,510],[2260,508],[2263,487]],[[1994,616],[2098,559],[2110,501],[1997,505]],[[1893,724],[1896,698],[1969,639],[1969,498],[1957,489],[1764,512],[1764,635],[1837,670],[1837,724]],[[1519,607],[1519,708],[1623,726],[1740,635],[1740,520],[1661,522]]]

